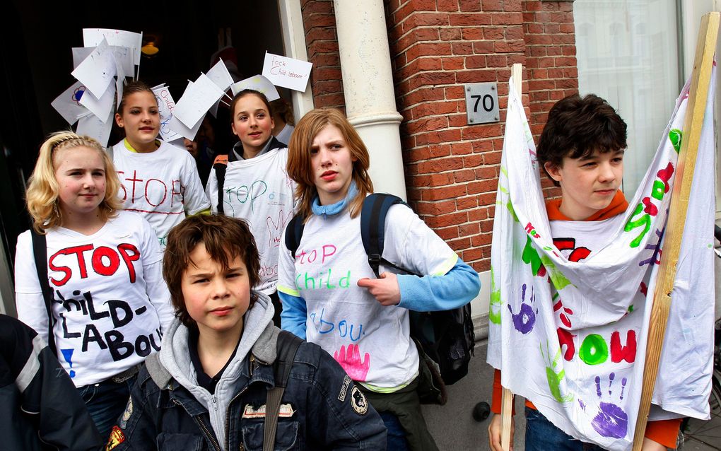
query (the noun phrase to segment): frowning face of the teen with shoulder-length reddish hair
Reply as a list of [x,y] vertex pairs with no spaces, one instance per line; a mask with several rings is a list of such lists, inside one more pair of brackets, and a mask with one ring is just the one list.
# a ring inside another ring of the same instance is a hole
[[313,180],[322,205],[342,201],[353,180],[353,162],[343,133],[336,126],[327,125],[318,132],[311,144]]

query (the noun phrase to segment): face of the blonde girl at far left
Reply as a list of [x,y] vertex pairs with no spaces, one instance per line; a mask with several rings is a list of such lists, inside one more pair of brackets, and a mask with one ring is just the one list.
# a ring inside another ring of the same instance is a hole
[[105,165],[95,149],[62,149],[53,159],[64,214],[89,214],[105,198]]

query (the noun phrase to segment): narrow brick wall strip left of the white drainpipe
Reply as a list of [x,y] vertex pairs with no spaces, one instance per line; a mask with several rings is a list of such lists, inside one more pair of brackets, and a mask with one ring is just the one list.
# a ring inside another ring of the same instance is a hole
[[308,61],[313,63],[310,83],[315,106],[344,109],[333,1],[301,0],[301,12]]

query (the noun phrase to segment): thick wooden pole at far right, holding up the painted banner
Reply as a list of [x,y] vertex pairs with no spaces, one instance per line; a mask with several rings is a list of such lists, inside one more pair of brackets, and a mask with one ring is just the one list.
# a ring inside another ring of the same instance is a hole
[[[658,375],[658,363],[663,349],[668,312],[671,310],[671,294],[673,281],[676,279],[678,253],[681,249],[681,238],[684,235],[686,210],[689,206],[691,182],[694,178],[696,154],[701,139],[701,128],[704,123],[704,110],[709,93],[709,81],[716,40],[719,30],[718,12],[710,12],[701,20],[699,39],[696,43],[694,72],[691,76],[689,91],[689,107],[686,110],[684,131],[681,135],[681,152],[678,154],[676,167],[676,183],[673,184],[673,198],[666,225],[666,237],[663,244],[663,257],[658,268],[658,279],[653,293],[653,307],[648,330],[646,362],[643,369],[643,387],[636,428],[634,432],[633,451],[640,451],[646,431],[651,397]],[[711,170],[711,168],[708,168]],[[710,224],[709,224],[710,227]]]

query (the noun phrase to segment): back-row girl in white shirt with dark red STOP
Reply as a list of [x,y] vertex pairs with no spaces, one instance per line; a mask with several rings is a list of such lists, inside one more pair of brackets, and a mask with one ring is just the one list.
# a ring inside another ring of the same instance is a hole
[[112,146],[123,209],[142,214],[164,249],[168,232],[186,215],[210,213],[195,159],[158,139],[158,102],[143,82],[125,85],[115,123],[125,131],[125,139]]

